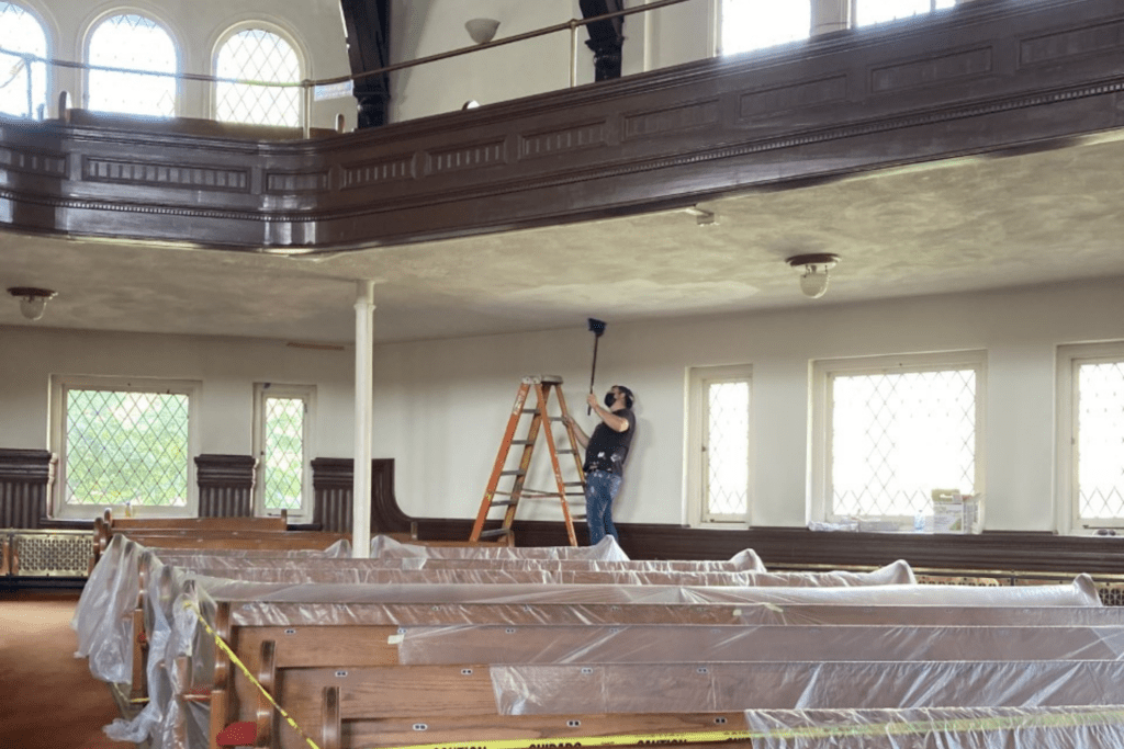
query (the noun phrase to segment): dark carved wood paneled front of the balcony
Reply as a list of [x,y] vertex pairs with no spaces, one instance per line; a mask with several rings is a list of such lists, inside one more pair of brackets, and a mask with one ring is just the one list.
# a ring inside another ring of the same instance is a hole
[[0,200],[20,230],[310,252],[681,207],[1120,128],[1122,28],[1118,0],[972,2],[310,140],[0,118]]

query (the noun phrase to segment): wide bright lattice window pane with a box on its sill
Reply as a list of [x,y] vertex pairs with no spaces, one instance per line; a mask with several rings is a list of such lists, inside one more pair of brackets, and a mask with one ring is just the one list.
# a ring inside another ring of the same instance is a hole
[[935,488],[975,492],[976,371],[833,375],[831,512],[932,513]]

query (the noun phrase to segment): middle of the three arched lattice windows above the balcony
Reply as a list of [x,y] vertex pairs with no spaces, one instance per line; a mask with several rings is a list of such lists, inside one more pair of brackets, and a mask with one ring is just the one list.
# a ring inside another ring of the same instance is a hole
[[[87,77],[87,108],[156,117],[175,115],[175,44],[156,21],[133,13],[107,18],[90,35],[88,62],[94,70]],[[97,70],[99,66],[145,72]]]

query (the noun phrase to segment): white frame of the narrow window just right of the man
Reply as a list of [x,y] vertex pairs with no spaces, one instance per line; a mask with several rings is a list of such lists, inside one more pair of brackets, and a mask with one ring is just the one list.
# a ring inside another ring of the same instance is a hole
[[[706,389],[716,382],[745,382],[750,389],[750,407],[747,420],[747,481],[745,486],[744,514],[711,514],[707,508],[704,492],[706,490],[703,442],[706,435]],[[685,450],[685,494],[687,496],[688,523],[692,528],[711,528],[722,530],[747,529],[753,521],[753,478],[756,447],[753,430],[753,365],[728,364],[718,366],[697,366],[687,369],[687,435]]]

